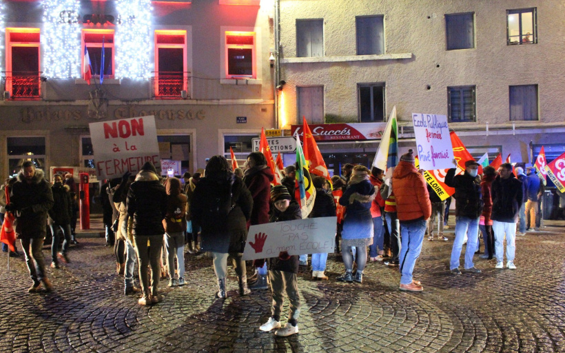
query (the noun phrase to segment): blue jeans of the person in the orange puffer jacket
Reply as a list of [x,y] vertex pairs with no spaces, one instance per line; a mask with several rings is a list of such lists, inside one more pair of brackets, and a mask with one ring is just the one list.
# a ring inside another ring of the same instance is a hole
[[427,223],[423,219],[411,223],[400,222],[402,250],[400,250],[400,284],[412,283],[412,272],[426,233]]

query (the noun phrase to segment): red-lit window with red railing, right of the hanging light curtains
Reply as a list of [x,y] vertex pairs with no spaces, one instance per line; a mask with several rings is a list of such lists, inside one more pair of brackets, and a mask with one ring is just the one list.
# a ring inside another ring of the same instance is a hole
[[185,30],[155,31],[155,97],[181,98],[187,92],[186,48]]

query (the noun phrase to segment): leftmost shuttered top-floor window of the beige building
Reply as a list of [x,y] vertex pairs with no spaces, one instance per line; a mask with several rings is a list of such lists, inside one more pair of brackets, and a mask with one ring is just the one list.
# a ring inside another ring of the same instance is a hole
[[324,20],[296,20],[296,56],[324,56]]

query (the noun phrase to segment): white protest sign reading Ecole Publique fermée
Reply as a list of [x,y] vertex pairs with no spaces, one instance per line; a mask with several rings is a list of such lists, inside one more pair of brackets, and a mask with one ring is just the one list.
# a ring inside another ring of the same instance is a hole
[[436,114],[412,113],[418,158],[423,170],[453,168],[453,145],[447,117]]

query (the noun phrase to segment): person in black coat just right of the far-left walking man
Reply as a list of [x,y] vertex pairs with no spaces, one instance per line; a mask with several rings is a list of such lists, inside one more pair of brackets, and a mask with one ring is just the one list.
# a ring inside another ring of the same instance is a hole
[[[49,210],[49,216],[53,220],[53,224],[51,225],[51,232],[53,234],[51,243],[51,267],[59,268],[57,256],[59,256],[59,259],[61,259],[63,263],[70,262],[67,250],[71,241],[70,221],[72,217],[72,200],[68,191],[68,186],[63,185],[63,178],[61,175],[55,174],[53,181],[54,183],[51,187],[51,191],[53,192],[54,205],[53,208]],[[57,254],[60,231],[63,232],[65,240],[63,240],[61,252]]]

